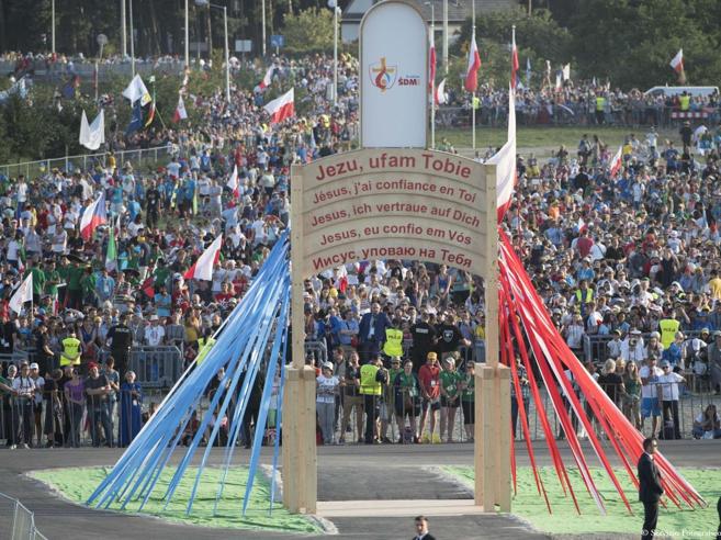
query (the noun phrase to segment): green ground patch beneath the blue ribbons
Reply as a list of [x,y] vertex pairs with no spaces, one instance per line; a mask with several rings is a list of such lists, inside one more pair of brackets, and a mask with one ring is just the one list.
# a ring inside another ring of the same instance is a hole
[[[155,516],[167,521],[201,527],[275,530],[296,533],[323,532],[323,528],[316,520],[306,516],[290,514],[278,503],[273,507],[272,516],[269,516],[270,485],[260,475],[256,475],[248,510],[244,517],[243,497],[248,480],[248,469],[244,466],[234,466],[228,471],[223,498],[215,515],[213,515],[213,505],[215,504],[217,481],[222,470],[217,468],[204,469],[192,511],[190,516],[185,516],[185,507],[196,471],[196,469],[188,469],[166,510],[162,509],[165,503],[161,497],[168,486],[168,481],[174,473],[174,468],[166,468],[151,497],[142,511],[138,511],[139,503],[137,502],[128,504],[125,510],[120,509],[120,504],[111,505],[110,509],[127,514]],[[85,504],[109,472],[110,469],[106,468],[49,469],[34,471],[31,476],[58,491],[72,503]]]

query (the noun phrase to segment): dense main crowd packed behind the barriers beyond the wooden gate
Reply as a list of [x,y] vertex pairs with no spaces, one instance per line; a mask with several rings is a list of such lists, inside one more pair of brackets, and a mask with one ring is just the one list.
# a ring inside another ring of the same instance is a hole
[[[280,125],[270,125],[264,94],[254,89],[234,88],[229,103],[219,90],[195,97],[190,106],[202,112],[203,127],[158,132],[173,145],[160,168],[116,162],[111,153],[88,171],[0,178],[9,447],[72,446],[82,427],[94,445],[132,439],[143,384],[155,375],[133,373],[131,351],[174,347],[180,368],[202,356],[289,225],[290,166],[357,138],[358,64],[341,61],[334,106],[329,58],[273,59],[275,87],[305,90],[296,103],[304,113]],[[570,348],[585,359],[585,344],[600,342],[588,364],[599,384],[636,425],[651,418],[664,435],[669,420],[669,438],[688,435],[674,402],[691,383],[716,393],[721,384],[719,140],[708,133],[683,125],[677,144],[654,130],[629,134],[618,178],[609,178],[612,155],[598,137],[544,164],[519,157],[506,222]],[[702,153],[692,146],[700,139]],[[227,187],[234,167],[238,193]],[[80,216],[100,193],[106,223],[83,238]],[[116,254],[109,258],[111,229]],[[212,280],[185,279],[221,234]],[[33,302],[15,313],[8,300],[30,273]],[[473,361],[485,350],[480,278],[372,260],[313,275],[304,288],[319,440],[349,441],[349,427],[367,443],[395,442],[391,434],[398,442],[472,439]],[[525,376],[520,389],[518,396],[512,389],[514,425],[519,400],[529,401]],[[718,435],[716,410],[699,413],[695,435]]]

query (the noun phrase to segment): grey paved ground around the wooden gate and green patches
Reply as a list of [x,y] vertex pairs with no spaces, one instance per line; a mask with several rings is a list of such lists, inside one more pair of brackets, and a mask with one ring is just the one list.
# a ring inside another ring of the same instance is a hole
[[[662,450],[675,464],[719,466],[718,441],[662,442]],[[525,450],[518,448],[519,465],[528,464]],[[588,449],[587,455],[593,454]],[[542,464],[550,464],[548,451],[537,448]],[[58,466],[110,465],[120,451],[109,449],[25,450],[0,452],[0,492],[20,498],[35,513],[36,524],[50,540],[64,539],[192,539],[259,538],[288,539],[288,535],[238,530],[204,529],[170,525],[158,519],[98,511],[58,498],[46,486],[29,479],[29,470]],[[269,460],[266,454],[264,461]],[[239,463],[247,459],[244,454]],[[471,445],[328,447],[318,450],[318,495],[320,500],[368,499],[460,499],[471,492],[432,471],[433,465],[473,463]],[[8,530],[9,516],[0,513],[0,538]],[[339,538],[410,538],[409,518],[335,518]],[[439,538],[516,539],[544,538],[509,516],[450,516],[431,521]],[[323,538],[323,537],[303,537]]]

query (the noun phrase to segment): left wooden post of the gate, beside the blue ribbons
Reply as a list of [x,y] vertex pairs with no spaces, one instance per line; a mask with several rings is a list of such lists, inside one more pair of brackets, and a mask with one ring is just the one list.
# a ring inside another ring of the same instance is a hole
[[293,363],[283,396],[283,505],[314,514],[318,498],[315,447],[315,370],[305,365],[303,320],[303,168],[291,171],[291,320]]

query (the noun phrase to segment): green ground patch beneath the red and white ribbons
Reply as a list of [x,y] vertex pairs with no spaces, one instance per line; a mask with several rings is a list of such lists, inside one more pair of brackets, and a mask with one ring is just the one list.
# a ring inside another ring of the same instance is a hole
[[[473,484],[473,468],[443,466],[442,470],[465,483]],[[592,475],[606,506],[606,516],[600,514],[590,498],[577,469],[568,469],[568,476],[578,499],[581,516],[576,513],[571,496],[564,496],[555,471],[549,466],[540,468],[539,471],[553,514],[549,514],[545,500],[536,487],[533,473],[528,466],[518,468],[518,488],[511,503],[511,513],[529,521],[536,529],[551,535],[640,533],[643,524],[643,505],[638,502],[636,492],[623,470],[617,470],[616,473],[634,515],[629,514],[608,475],[600,468],[592,469]],[[678,471],[701,494],[709,506],[696,510],[687,507],[679,510],[668,502],[667,508],[661,507],[658,528],[666,532],[664,536],[672,538],[716,538],[716,529],[719,525],[716,504],[721,495],[721,469],[679,468]]]

